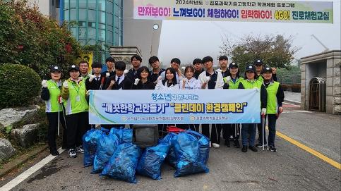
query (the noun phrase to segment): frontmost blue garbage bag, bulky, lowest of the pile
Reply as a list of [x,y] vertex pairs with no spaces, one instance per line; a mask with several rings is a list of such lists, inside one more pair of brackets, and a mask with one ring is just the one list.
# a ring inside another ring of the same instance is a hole
[[100,175],[137,183],[135,172],[141,149],[136,144],[120,144]]

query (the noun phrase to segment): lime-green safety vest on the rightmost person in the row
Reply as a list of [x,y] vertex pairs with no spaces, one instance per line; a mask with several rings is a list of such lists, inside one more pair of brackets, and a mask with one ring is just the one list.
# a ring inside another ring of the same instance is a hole
[[268,104],[266,106],[267,114],[275,114],[277,113],[277,90],[280,87],[280,82],[270,82],[268,87],[266,88],[266,92],[268,92]]

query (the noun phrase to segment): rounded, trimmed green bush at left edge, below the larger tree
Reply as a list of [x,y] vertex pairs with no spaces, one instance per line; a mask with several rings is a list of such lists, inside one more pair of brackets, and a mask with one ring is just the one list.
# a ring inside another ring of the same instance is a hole
[[39,75],[20,64],[1,64],[0,79],[0,108],[27,106],[41,90]]

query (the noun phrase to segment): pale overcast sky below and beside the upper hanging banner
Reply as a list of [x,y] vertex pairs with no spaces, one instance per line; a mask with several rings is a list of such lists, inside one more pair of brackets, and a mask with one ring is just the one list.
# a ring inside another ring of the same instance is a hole
[[328,49],[340,50],[340,1],[333,1],[333,24],[163,20],[158,57],[163,64],[169,63],[174,57],[180,58],[181,63],[192,63],[194,58],[204,56],[217,58],[223,35],[234,41],[246,35],[292,36],[293,46],[301,48],[294,55],[297,59],[325,50],[311,35],[315,35]]

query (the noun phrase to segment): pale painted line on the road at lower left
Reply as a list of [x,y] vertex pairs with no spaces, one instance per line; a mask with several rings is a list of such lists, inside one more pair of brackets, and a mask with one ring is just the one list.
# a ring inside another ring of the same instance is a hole
[[[58,152],[61,154],[62,152],[64,152],[64,149],[59,148]],[[18,175],[16,178],[11,180],[9,183],[7,183],[6,185],[3,185],[2,187],[0,187],[0,191],[8,191],[8,190],[11,190],[13,187],[16,187],[16,185],[18,185],[21,182],[23,182],[23,180],[25,180],[30,175],[32,175],[32,173],[35,173],[36,171],[38,171],[40,168],[42,168],[43,166],[48,164],[49,161],[52,161],[52,159],[54,159],[54,158],[56,158],[56,156],[52,156],[51,154],[49,156],[45,157],[40,162],[35,164],[35,166],[32,166],[31,168],[28,168],[28,170],[26,170],[25,172],[23,172],[20,175]]]

